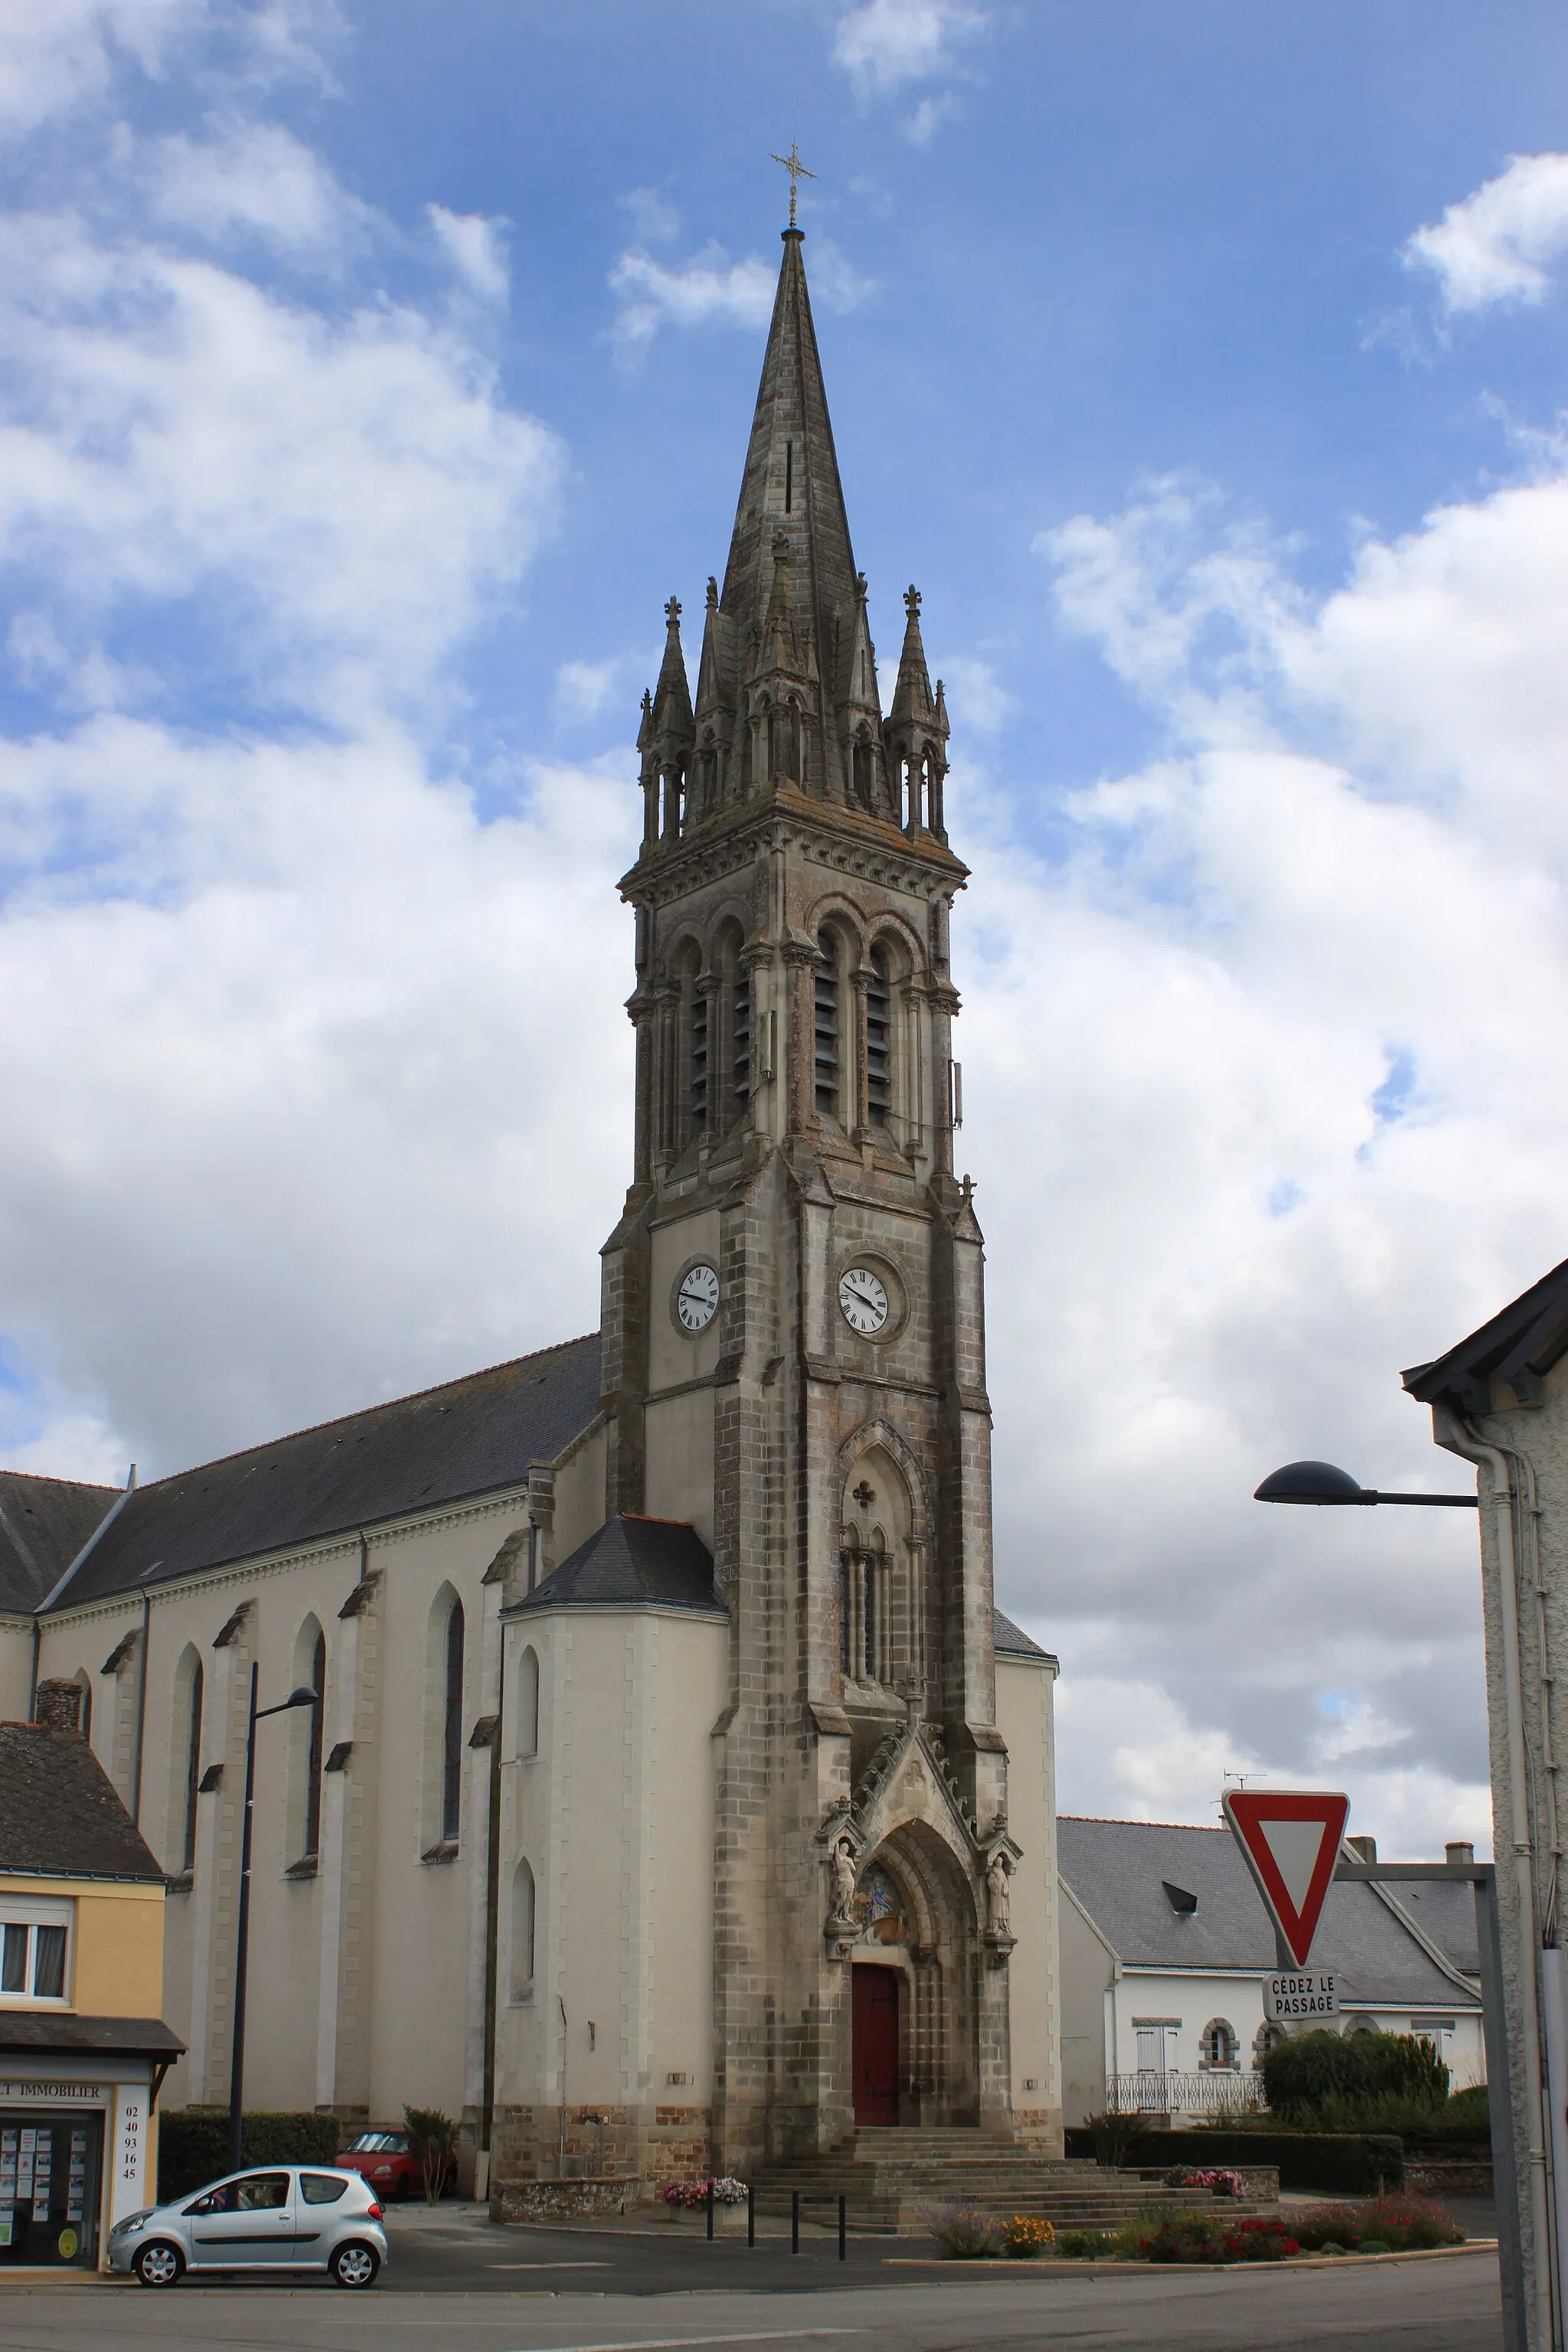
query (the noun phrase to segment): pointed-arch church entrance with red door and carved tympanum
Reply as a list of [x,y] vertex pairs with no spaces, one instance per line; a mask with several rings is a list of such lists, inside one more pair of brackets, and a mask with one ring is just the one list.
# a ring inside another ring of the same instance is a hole
[[980,1926],[964,1865],[931,1823],[900,1823],[865,1858],[856,1917],[856,2124],[978,2124]]

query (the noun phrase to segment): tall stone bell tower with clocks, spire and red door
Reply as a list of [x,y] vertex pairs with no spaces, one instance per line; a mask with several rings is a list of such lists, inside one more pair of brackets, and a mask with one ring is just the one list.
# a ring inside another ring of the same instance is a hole
[[604,1247],[607,1510],[689,1519],[731,1618],[729,2169],[856,2117],[1013,2129],[983,1247],[952,1171],[966,868],[912,588],[882,710],[802,245],[696,701],[672,597],[642,706],[637,1160]]

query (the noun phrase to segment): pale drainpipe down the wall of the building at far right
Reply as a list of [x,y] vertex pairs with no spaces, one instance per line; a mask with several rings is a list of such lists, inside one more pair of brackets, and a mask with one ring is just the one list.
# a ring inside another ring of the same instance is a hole
[[[1516,1505],[1523,1508],[1523,1494],[1516,1489],[1509,1465],[1519,1468],[1519,1484],[1523,1486],[1526,1465],[1521,1456],[1490,1444],[1469,1423],[1465,1414],[1453,1409],[1441,1411],[1441,1425],[1436,1428],[1439,1444],[1448,1446],[1462,1461],[1472,1461],[1486,1470],[1490,1477],[1490,1503],[1483,1508],[1493,1515],[1493,1536],[1497,1543],[1497,1609],[1502,1616],[1502,1691],[1505,1691],[1505,1733],[1507,1733],[1507,1778],[1509,1778],[1509,1818],[1514,1823],[1514,1898],[1519,1905],[1519,1926],[1528,1938],[1528,1966],[1519,1971],[1519,2006],[1523,2011],[1523,2032],[1519,2037],[1523,2074],[1526,2074],[1526,2138],[1530,2154],[1530,2239],[1535,2249],[1535,2260],[1530,2265],[1530,2345],[1537,2352],[1547,2352],[1549,2345],[1559,2343],[1556,2328],[1552,2326],[1552,2274],[1554,2263],[1554,2234],[1552,2234],[1552,2197],[1547,2183],[1547,2136],[1544,2136],[1544,2082],[1542,2082],[1542,2044],[1540,2044],[1540,1922],[1535,1917],[1535,1858],[1530,1851],[1530,1799],[1528,1799],[1528,1759],[1523,1748],[1523,1672],[1519,1665],[1519,1569],[1521,1569],[1521,1543],[1514,1526]],[[1500,1865],[1502,1867],[1502,1865]]]

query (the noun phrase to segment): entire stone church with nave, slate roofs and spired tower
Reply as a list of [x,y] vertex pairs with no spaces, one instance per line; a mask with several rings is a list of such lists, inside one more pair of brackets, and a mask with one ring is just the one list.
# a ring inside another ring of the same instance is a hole
[[[1060,2157],[1056,1661],[992,1599],[947,713],[882,710],[783,233],[741,501],[637,736],[599,1329],[125,1491],[0,1475],[0,1715],[167,1872],[165,2105],[463,2122],[465,2178]],[[609,880],[609,877],[607,877]],[[59,1700],[59,1691],[52,1693]]]

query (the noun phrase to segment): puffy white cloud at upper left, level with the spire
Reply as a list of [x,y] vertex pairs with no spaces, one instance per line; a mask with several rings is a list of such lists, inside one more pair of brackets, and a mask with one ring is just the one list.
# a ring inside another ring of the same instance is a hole
[[254,689],[343,717],[428,691],[548,529],[555,437],[411,308],[327,318],[38,216],[0,280],[0,562],[28,583],[47,546],[26,602],[63,637],[200,593]]

